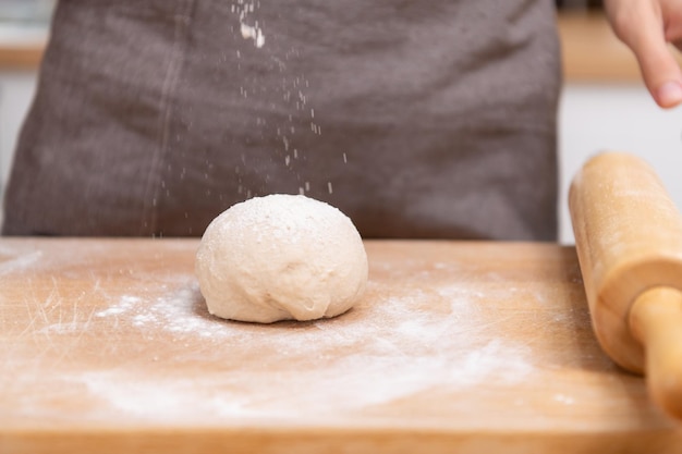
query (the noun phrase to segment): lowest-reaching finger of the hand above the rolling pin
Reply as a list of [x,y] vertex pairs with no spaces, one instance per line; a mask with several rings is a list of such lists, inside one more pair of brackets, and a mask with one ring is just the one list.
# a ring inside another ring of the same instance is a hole
[[634,52],[654,100],[662,108],[678,106],[682,102],[682,71],[666,41],[660,12],[638,10],[611,20],[613,30]]

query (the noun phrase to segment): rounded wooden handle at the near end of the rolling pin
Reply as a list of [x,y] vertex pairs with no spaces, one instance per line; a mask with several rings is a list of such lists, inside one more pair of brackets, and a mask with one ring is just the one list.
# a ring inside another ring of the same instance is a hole
[[633,304],[629,322],[645,348],[649,393],[667,413],[682,418],[682,292],[647,290]]

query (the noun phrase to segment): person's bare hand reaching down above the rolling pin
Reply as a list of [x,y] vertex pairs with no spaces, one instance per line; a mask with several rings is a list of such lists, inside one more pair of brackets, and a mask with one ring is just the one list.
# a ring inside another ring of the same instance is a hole
[[604,0],[616,36],[637,58],[644,84],[662,108],[682,102],[682,71],[668,44],[682,50],[682,0]]

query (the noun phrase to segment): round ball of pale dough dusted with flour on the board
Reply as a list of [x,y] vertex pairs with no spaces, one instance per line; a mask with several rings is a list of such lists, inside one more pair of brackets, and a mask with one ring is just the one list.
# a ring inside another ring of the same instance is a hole
[[233,205],[208,225],[196,255],[208,310],[270,323],[345,312],[367,284],[367,255],[339,209],[303,195]]

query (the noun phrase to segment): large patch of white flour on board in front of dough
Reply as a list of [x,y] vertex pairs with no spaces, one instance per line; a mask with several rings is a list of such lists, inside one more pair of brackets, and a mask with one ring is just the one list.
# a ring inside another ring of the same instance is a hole
[[[411,290],[361,307],[358,318],[272,326],[212,318],[197,292],[186,279],[151,302],[127,294],[96,314],[182,340],[186,348],[168,359],[167,372],[114,367],[69,380],[133,418],[277,418],[358,410],[434,386],[511,386],[534,368],[527,345],[476,334],[485,320],[475,289],[437,289],[450,307],[446,314],[423,309],[434,293]],[[158,343],[139,348],[153,346]],[[173,375],[172,363],[183,360],[206,366],[187,377],[180,365],[185,375]]]

